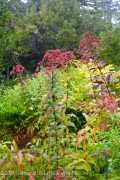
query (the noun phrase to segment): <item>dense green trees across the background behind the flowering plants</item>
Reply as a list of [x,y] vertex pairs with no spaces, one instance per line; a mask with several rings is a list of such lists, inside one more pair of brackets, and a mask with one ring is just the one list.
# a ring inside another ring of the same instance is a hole
[[[120,34],[117,0],[29,0],[27,3],[1,0],[0,3],[0,59],[3,60],[0,66],[5,69],[1,73],[7,79],[9,69],[18,62],[33,72],[38,59],[42,59],[48,49],[77,52],[79,41],[86,32],[99,37],[105,33],[101,59],[111,62],[111,57],[119,51],[119,41],[115,40]],[[109,38],[112,38],[111,44]],[[114,52],[112,47],[116,48]],[[119,53],[116,59],[119,59]],[[112,63],[118,65],[116,59]]]

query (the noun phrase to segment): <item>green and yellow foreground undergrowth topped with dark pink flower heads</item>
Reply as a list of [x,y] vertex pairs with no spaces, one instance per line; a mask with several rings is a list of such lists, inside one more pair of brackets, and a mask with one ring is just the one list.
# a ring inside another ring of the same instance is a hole
[[2,179],[119,179],[119,87],[97,46],[86,34],[81,62],[49,50],[32,78],[13,68],[20,83],[0,96]]

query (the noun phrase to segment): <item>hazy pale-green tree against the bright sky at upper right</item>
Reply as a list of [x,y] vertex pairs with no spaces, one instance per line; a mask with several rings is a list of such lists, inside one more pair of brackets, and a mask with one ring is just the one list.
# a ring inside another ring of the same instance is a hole
[[78,0],[81,17],[82,30],[91,34],[100,35],[101,32],[106,32],[112,27],[110,7],[111,0]]

